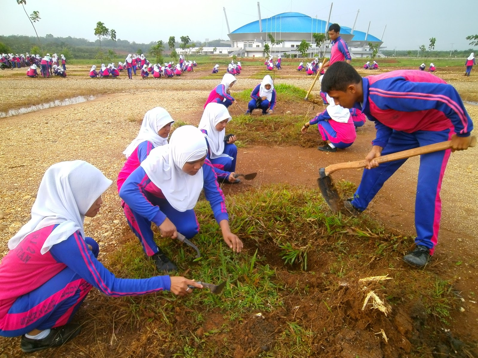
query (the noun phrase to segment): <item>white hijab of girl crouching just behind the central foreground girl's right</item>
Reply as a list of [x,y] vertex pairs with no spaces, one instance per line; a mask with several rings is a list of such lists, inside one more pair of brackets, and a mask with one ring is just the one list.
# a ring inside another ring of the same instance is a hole
[[225,105],[220,103],[211,102],[206,105],[204,109],[203,116],[199,122],[199,129],[206,129],[207,131],[207,142],[209,143],[209,150],[211,151],[211,158],[219,157],[229,157],[227,154],[224,154],[224,136],[226,134],[226,129],[217,131],[216,125],[219,122],[227,119],[228,123],[232,119],[229,115],[228,109]]

